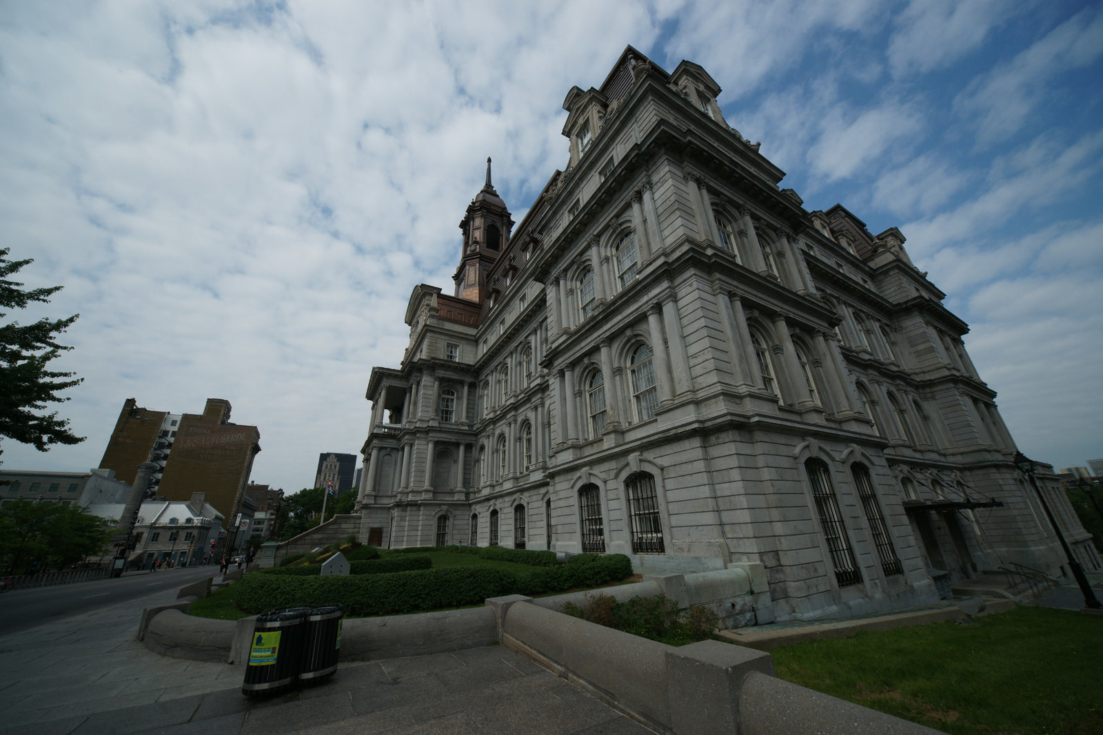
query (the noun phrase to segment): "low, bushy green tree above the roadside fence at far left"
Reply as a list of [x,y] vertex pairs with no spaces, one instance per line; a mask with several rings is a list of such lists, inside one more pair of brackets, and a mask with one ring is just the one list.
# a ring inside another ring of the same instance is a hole
[[76,505],[6,502],[0,507],[0,568],[24,574],[98,556],[111,530],[110,522]]

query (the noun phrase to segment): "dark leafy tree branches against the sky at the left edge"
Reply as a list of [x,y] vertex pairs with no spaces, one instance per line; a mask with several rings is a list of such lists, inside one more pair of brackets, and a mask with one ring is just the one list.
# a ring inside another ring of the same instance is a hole
[[[8,248],[0,248],[0,320],[8,316],[8,310],[25,309],[32,301],[49,303],[50,296],[61,290],[24,290],[23,284],[9,277],[32,260],[8,260]],[[45,452],[51,444],[76,444],[83,436],[74,435],[67,419],[58,419],[57,412],[45,413],[50,402],[63,402],[58,393],[79,385],[84,378],[74,378],[74,372],[58,372],[47,369],[47,364],[63,349],[55,337],[67,329],[79,314],[68,318],[41,318],[33,324],[18,322],[0,323],[0,439],[14,439],[22,444],[31,444]],[[0,450],[2,452],[2,450]]]

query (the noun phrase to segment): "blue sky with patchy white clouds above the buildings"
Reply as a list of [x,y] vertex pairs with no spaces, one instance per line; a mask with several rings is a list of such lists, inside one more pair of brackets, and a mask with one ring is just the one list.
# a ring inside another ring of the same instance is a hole
[[4,2],[0,221],[86,471],[124,400],[233,403],[253,479],[358,453],[406,300],[446,290],[494,158],[521,220],[567,160],[560,105],[627,44],[703,65],[808,209],[843,203],[972,326],[1019,448],[1103,456],[1103,12],[1091,2]]

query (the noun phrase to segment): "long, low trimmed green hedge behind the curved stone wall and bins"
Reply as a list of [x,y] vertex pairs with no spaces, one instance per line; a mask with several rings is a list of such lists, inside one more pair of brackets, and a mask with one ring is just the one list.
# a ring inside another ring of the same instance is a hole
[[478,605],[488,597],[535,595],[617,582],[632,574],[623,554],[582,554],[533,572],[453,566],[355,576],[246,574],[233,587],[234,604],[247,613],[299,605],[344,605],[352,616],[396,615]]

